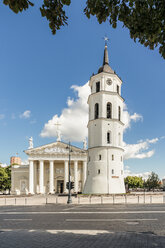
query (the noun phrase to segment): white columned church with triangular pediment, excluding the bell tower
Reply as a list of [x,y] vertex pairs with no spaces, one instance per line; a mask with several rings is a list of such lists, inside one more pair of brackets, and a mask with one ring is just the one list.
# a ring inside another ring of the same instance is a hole
[[[72,192],[82,192],[86,181],[87,152],[71,146]],[[69,152],[67,144],[54,142],[30,148],[25,151],[29,165],[12,166],[12,194],[54,194],[68,193],[66,183],[69,172]]]

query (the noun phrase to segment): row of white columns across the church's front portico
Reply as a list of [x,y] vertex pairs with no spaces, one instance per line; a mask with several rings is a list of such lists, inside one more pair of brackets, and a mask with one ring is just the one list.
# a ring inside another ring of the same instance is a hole
[[[54,162],[49,160],[49,193],[54,193]],[[68,182],[69,161],[64,161],[64,193],[67,193],[66,182]],[[82,187],[84,187],[87,173],[87,162],[83,161]],[[78,192],[78,161],[74,161],[74,192]],[[34,190],[34,161],[29,160],[29,193],[35,194]],[[44,193],[44,160],[39,161],[39,193]]]

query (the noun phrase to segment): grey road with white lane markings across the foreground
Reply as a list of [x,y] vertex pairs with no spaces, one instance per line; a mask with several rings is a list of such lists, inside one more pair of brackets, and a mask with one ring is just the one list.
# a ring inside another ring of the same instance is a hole
[[165,247],[165,204],[0,207],[0,248]]

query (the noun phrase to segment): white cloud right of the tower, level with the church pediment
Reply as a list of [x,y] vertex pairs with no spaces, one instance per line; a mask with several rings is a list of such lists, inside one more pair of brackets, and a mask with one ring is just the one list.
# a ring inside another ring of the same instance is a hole
[[124,143],[124,159],[130,158],[150,158],[154,155],[154,150],[148,150],[151,144],[158,142],[158,138],[155,139],[147,139],[145,141],[139,141],[137,144],[126,144]]

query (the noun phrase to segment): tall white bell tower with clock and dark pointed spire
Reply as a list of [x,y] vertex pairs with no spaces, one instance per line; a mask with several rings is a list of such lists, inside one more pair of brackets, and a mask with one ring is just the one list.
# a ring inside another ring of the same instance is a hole
[[83,193],[125,193],[121,85],[109,66],[105,44],[103,66],[89,81],[88,168]]

